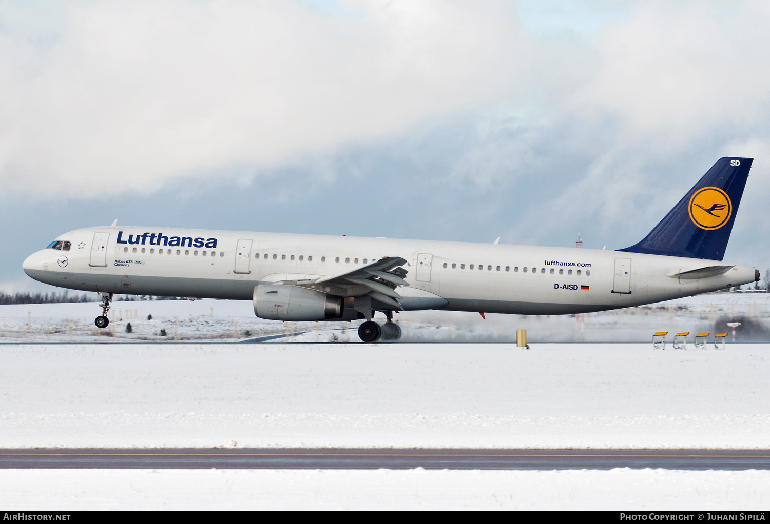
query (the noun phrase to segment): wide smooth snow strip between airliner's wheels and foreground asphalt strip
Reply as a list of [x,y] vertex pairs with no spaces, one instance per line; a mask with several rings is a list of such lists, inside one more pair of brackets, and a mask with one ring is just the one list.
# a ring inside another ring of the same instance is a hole
[[770,345],[0,345],[0,447],[770,448]]

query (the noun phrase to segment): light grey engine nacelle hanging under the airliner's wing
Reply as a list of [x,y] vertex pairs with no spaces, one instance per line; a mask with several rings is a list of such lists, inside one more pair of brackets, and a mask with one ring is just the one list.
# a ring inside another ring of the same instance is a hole
[[296,285],[262,284],[254,288],[254,314],[260,319],[339,319],[343,307],[342,297]]

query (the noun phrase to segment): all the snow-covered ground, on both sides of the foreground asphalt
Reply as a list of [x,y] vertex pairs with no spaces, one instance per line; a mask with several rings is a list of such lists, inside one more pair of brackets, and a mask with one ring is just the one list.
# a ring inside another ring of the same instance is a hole
[[[748,326],[738,340],[762,339],[768,299],[705,295],[582,322],[410,312],[399,317],[404,343],[373,345],[345,343],[357,340],[355,324],[346,332],[334,323],[263,321],[249,302],[115,302],[123,320],[109,335],[90,327],[93,302],[3,305],[0,341],[27,343],[0,344],[0,447],[766,449],[770,344],[654,351],[649,340],[658,330],[724,332],[725,318]],[[516,328],[530,330],[531,350],[471,343],[505,342]],[[149,343],[172,342],[175,329],[178,344]],[[286,337],[222,343],[274,334]],[[575,339],[589,343],[544,343]],[[456,343],[427,343],[444,341]],[[762,509],[768,485],[766,471],[5,469],[0,504]]]

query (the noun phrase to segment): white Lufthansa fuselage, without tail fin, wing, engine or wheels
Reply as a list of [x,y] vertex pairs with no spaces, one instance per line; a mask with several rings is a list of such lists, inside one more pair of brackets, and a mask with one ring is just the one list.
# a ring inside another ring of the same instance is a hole
[[[407,259],[404,309],[559,315],[648,304],[755,281],[678,275],[722,262],[594,249],[143,227],[79,229],[24,269],[83,291],[251,300],[256,285],[335,275],[383,256]],[[174,240],[176,239],[176,240]],[[118,242],[120,241],[120,242]],[[183,242],[184,245],[174,245]],[[62,258],[63,257],[63,258]]]

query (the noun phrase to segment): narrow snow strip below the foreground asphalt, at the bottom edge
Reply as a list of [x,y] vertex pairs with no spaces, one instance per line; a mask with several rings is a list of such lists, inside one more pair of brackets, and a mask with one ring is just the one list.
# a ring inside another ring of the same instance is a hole
[[[762,510],[767,471],[0,470],[0,506],[75,509]],[[708,517],[705,517],[708,518]]]

